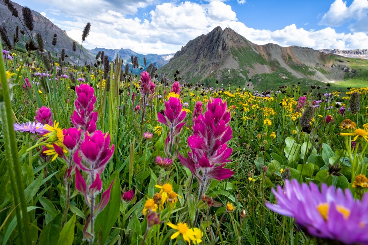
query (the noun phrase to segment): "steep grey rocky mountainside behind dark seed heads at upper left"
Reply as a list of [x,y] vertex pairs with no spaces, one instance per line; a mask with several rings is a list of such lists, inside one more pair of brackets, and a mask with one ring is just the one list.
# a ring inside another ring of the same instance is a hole
[[[19,17],[22,18],[22,6],[20,6],[17,3],[13,2],[13,5],[15,8],[18,9]],[[78,55],[79,55],[79,49],[80,45],[78,42],[75,42],[77,44],[77,51],[74,53],[72,51],[72,44],[74,42],[73,39],[71,39],[65,30],[61,30],[59,27],[54,25],[49,19],[41,15],[39,12],[33,11],[33,19],[34,22],[34,29],[32,31],[33,40],[35,40],[36,33],[40,33],[44,42],[45,50],[51,51],[53,53],[54,46],[52,45],[52,39],[54,37],[54,33],[57,34],[57,43],[55,46],[55,55],[61,54],[61,50],[64,48],[66,51],[66,54],[68,55],[68,58],[66,58],[66,61],[71,62],[72,64],[77,64],[78,62]],[[13,15],[11,15],[11,12],[8,10],[8,8],[4,5],[3,1],[0,1],[0,26],[5,26],[8,30],[9,39],[13,42],[13,33],[15,33],[15,29],[17,26],[19,26],[20,30],[26,30],[20,22],[18,18],[15,18]],[[28,31],[29,32],[29,31]],[[81,33],[82,37],[82,33]],[[18,46],[24,48],[24,44],[26,41],[29,40],[29,36],[27,33],[25,33],[25,36],[22,36],[19,33],[19,43]],[[82,53],[79,61],[79,65],[84,64],[85,61],[87,61],[88,64],[93,64],[95,62],[95,57],[91,52],[86,50],[85,48],[82,48]]]

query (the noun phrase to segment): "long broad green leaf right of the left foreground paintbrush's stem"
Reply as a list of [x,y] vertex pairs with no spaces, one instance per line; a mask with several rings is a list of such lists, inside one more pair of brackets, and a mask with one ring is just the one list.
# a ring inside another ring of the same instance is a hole
[[95,221],[95,243],[99,241],[100,244],[105,244],[107,237],[109,237],[111,228],[115,224],[115,221],[120,215],[120,180],[119,174],[115,171],[107,182],[106,188],[110,186],[112,181],[114,184],[111,188],[110,199],[106,207],[98,214]]

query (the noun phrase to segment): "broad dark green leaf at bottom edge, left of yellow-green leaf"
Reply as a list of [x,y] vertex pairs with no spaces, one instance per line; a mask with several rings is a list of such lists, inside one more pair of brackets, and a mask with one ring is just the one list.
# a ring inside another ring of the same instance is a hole
[[61,225],[61,213],[57,213],[57,215],[43,228],[39,245],[50,245],[55,244],[56,241],[59,240],[60,237],[60,225]]

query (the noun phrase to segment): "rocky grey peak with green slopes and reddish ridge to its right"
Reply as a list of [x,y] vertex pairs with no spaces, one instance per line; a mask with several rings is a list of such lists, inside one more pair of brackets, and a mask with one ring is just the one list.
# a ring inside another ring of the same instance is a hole
[[275,72],[284,78],[329,82],[354,72],[346,61],[340,63],[336,58],[312,48],[281,47],[272,43],[257,45],[230,28],[223,30],[218,26],[189,41],[156,73],[171,78],[178,69],[185,81],[208,81],[212,85],[215,80],[229,78],[234,85],[243,85],[255,75]]

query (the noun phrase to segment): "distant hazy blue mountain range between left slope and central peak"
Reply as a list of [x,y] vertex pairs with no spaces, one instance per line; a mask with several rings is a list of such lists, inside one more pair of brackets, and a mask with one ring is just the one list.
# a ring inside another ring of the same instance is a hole
[[[149,64],[153,64],[156,66],[156,68],[159,68],[167,62],[170,61],[171,58],[174,57],[174,54],[139,54],[134,52],[133,50],[129,48],[120,48],[120,49],[107,49],[107,48],[94,48],[90,49],[92,54],[96,55],[99,51],[103,51],[108,57],[109,60],[114,60],[116,58],[116,55],[119,55],[123,60],[124,64],[130,64],[132,66],[131,62],[131,56],[137,56],[138,58],[138,65],[142,68],[147,68]],[[146,57],[146,63],[147,65],[144,66],[143,58]]]

